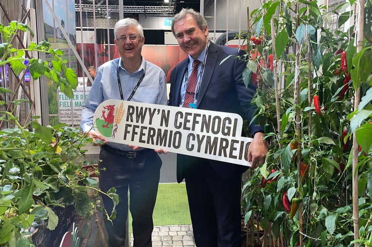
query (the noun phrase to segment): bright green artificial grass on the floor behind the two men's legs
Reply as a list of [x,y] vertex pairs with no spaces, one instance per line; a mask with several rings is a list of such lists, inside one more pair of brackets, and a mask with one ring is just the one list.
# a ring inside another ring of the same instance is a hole
[[[159,184],[154,213],[154,226],[190,225],[185,183]],[[129,236],[132,234],[132,215],[129,212]]]

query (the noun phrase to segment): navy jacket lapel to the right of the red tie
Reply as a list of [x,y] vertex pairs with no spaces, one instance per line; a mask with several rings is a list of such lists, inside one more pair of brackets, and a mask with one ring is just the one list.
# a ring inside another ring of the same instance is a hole
[[208,88],[209,83],[211,82],[213,71],[216,68],[218,53],[216,44],[210,42],[209,50],[207,54],[207,60],[205,61],[205,67],[203,72],[203,77],[201,79],[199,94],[196,102],[196,107],[199,106],[203,96]]

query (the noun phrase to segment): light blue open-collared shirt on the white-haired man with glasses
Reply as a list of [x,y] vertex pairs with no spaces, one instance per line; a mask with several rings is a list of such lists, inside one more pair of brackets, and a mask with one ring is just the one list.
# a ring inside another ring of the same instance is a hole
[[[119,68],[118,63],[120,64]],[[124,100],[127,100],[143,75],[145,67],[145,76],[131,101],[158,105],[168,104],[165,73],[162,69],[143,59],[139,69],[130,74],[122,66],[121,58],[113,59],[97,69],[94,83],[82,110],[80,128],[83,133],[92,129],[94,111],[100,103],[107,99],[121,100],[117,71],[119,71]],[[121,150],[133,150],[125,144],[113,142],[108,144]]]

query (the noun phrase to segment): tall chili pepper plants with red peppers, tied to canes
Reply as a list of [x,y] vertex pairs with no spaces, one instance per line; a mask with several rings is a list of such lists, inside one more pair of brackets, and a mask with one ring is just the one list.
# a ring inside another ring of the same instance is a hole
[[[265,230],[263,246],[372,244],[372,2],[362,27],[356,4],[326,12],[317,1],[274,0],[250,13],[248,32],[262,39],[246,40],[243,80],[258,83],[256,122],[265,125],[270,150],[249,171],[242,209],[248,226]],[[330,16],[338,19],[334,29]]]

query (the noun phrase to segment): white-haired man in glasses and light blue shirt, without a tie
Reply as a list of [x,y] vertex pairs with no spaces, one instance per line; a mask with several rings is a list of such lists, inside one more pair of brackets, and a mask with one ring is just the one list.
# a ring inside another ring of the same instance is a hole
[[[99,139],[105,143],[99,154],[98,167],[105,168],[99,174],[99,187],[102,191],[115,187],[120,198],[116,218],[112,224],[105,221],[109,246],[125,246],[129,189],[134,246],[151,247],[152,212],[162,165],[160,157],[151,149],[107,142],[104,136],[94,131],[93,114],[107,99],[166,105],[166,79],[162,69],[141,56],[144,37],[137,20],[119,20],[114,27],[114,36],[121,57],[98,67],[80,126],[94,141]],[[106,208],[112,208],[109,198],[103,196],[102,200]]]

